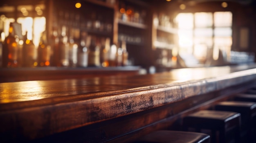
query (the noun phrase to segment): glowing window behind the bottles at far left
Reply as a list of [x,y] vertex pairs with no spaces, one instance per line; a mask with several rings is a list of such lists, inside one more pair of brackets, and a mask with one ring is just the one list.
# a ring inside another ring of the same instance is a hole
[[[15,12],[17,9],[17,12]],[[40,34],[45,31],[46,19],[44,4],[18,5],[0,7],[0,30],[4,31],[5,37],[9,35],[10,22],[21,24],[22,35],[28,33],[28,39],[32,39],[36,48],[39,44]],[[14,18],[17,17],[17,20]],[[21,39],[22,40],[22,39]]]

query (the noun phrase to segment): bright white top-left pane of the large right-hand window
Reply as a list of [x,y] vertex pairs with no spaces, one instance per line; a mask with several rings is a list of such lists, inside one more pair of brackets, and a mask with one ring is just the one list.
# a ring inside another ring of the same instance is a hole
[[179,29],[192,29],[194,26],[193,13],[179,13],[176,20]]

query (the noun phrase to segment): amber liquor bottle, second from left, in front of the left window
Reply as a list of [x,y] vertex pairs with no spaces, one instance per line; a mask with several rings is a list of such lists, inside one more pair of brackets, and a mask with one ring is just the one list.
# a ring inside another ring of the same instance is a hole
[[36,62],[36,47],[32,40],[28,38],[27,32],[23,40],[22,48],[22,63],[24,67],[35,67],[37,66]]

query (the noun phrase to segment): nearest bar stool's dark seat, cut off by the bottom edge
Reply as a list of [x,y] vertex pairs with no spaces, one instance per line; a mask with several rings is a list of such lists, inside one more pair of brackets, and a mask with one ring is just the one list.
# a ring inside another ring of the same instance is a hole
[[197,132],[159,130],[142,136],[135,143],[210,143],[210,136]]

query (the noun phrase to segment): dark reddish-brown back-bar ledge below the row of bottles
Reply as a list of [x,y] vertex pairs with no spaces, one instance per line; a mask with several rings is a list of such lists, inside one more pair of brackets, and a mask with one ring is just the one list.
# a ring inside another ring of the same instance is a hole
[[115,75],[139,75],[140,66],[0,68],[0,83],[31,80],[74,79]]

